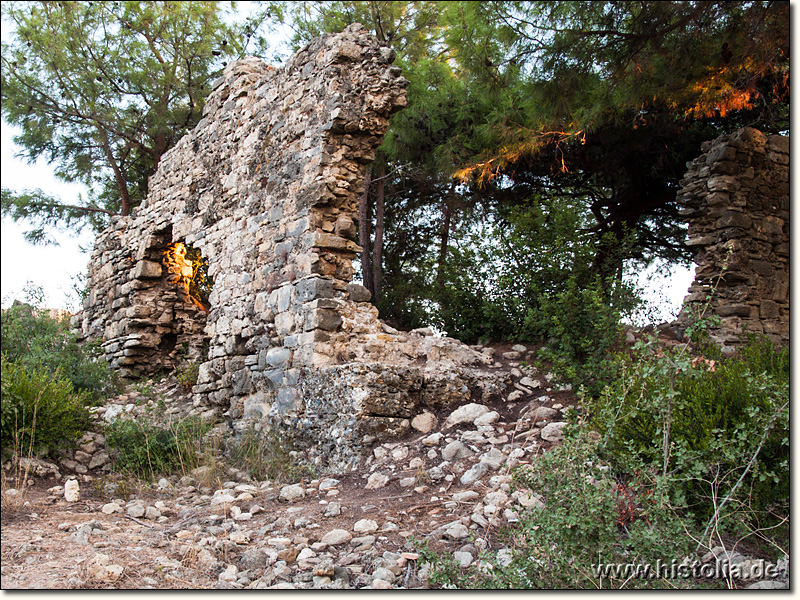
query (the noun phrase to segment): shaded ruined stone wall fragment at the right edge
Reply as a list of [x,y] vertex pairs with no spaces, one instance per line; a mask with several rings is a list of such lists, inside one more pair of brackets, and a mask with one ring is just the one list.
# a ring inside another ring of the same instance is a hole
[[706,142],[678,200],[697,270],[678,323],[719,317],[711,337],[789,342],[789,138],[752,128]]

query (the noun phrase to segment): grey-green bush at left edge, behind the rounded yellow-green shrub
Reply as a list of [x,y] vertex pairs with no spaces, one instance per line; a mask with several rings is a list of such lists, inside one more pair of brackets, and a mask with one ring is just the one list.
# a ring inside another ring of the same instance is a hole
[[[41,293],[29,290],[28,298],[35,304]],[[87,392],[95,402],[113,393],[115,383],[108,365],[99,357],[99,348],[79,346],[68,319],[58,321],[35,306],[15,302],[3,311],[0,329],[0,346],[9,361],[29,371],[60,369],[75,389]]]

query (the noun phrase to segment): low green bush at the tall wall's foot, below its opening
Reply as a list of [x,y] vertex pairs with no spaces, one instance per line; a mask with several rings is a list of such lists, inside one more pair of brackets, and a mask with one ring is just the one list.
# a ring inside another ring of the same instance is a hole
[[115,469],[143,478],[200,464],[202,438],[210,425],[199,417],[187,417],[162,427],[151,420],[117,419],[106,427],[106,444],[115,451]]

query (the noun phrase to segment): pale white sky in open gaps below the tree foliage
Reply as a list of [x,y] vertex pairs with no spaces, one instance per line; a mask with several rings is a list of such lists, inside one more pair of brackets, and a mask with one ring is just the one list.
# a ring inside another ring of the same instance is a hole
[[[243,3],[248,5],[249,3]],[[245,10],[249,6],[245,7]],[[4,24],[5,25],[5,24]],[[3,37],[7,31],[3,27]],[[288,36],[287,36],[288,37]],[[40,159],[28,164],[17,158],[21,148],[13,143],[18,130],[3,122],[0,124],[0,178],[2,187],[14,191],[40,188],[60,198],[63,202],[77,204],[78,195],[85,193],[79,184],[68,184],[57,179],[53,169]],[[53,235],[58,245],[33,246],[25,241],[27,226],[4,217],[0,222],[0,298],[2,306],[14,299],[25,299],[24,288],[29,283],[41,286],[48,308],[80,308],[75,286],[78,278],[86,274],[94,236],[85,228],[80,236],[69,232]],[[674,268],[668,276],[653,274],[652,270],[639,274],[646,282],[647,297],[655,307],[656,320],[668,321],[676,316],[686,291],[693,279],[693,268]]]

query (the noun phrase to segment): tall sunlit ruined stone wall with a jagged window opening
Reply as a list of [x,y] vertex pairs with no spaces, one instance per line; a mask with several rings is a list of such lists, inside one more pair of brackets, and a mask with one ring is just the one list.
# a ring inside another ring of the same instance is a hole
[[[354,25],[281,69],[230,64],[146,202],[98,237],[83,337],[129,377],[200,362],[198,414],[239,431],[270,421],[332,468],[426,406],[502,392],[486,356],[396,332],[352,283],[365,168],[406,103],[392,59]],[[207,306],[181,245],[208,262]]]

